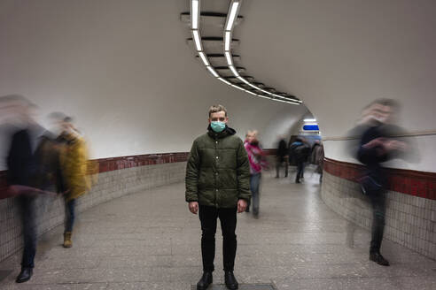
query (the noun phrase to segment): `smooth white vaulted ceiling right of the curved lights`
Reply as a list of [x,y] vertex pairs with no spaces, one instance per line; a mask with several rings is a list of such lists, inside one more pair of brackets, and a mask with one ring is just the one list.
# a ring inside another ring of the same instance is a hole
[[363,106],[401,101],[401,125],[436,130],[436,1],[245,0],[240,54],[256,79],[296,95],[325,137]]

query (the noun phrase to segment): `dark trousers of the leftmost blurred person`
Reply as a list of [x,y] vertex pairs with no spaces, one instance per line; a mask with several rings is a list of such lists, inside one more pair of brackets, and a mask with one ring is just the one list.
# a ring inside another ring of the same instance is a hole
[[21,225],[23,226],[24,250],[21,267],[34,268],[36,254],[35,197],[18,197]]

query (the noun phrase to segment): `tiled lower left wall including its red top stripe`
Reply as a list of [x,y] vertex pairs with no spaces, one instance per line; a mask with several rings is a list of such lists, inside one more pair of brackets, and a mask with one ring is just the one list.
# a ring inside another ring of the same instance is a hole
[[[185,176],[187,157],[188,153],[167,153],[97,159],[97,185],[77,200],[77,212],[123,195],[181,182]],[[23,247],[23,239],[17,199],[1,199],[6,186],[5,172],[0,172],[0,182],[0,261],[3,261]],[[183,193],[180,198],[184,199]],[[55,198],[38,196],[35,212],[37,233],[41,236],[63,224],[63,198],[59,195]]]

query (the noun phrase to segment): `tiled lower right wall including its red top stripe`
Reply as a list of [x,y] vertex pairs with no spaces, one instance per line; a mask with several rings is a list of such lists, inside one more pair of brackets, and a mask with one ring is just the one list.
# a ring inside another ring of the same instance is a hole
[[[357,179],[363,166],[326,158],[322,198],[331,210],[370,229],[372,210]],[[436,173],[386,169],[385,239],[436,259]],[[368,245],[369,247],[370,245]],[[383,246],[382,246],[383,247]]]

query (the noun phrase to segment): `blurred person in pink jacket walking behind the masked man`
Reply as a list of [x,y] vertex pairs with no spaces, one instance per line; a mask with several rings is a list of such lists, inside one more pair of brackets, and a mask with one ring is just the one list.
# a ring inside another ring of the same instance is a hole
[[[261,202],[261,194],[259,187],[261,185],[261,171],[265,166],[265,154],[259,146],[259,140],[257,139],[257,131],[248,131],[245,135],[244,147],[248,155],[248,161],[250,162],[250,190],[252,191],[253,200],[253,216],[259,217],[259,206]],[[246,212],[250,211],[250,204],[246,207]]]

